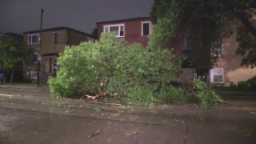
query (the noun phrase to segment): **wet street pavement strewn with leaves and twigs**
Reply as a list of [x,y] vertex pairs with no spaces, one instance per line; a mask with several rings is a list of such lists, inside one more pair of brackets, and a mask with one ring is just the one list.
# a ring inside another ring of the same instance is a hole
[[256,143],[256,102],[98,105],[46,87],[0,86],[0,143]]

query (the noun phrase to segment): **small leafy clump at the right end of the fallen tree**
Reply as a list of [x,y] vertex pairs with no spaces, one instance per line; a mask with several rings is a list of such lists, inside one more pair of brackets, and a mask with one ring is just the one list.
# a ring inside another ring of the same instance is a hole
[[207,106],[209,104],[216,104],[218,102],[218,96],[214,93],[214,90],[206,85],[200,78],[194,81],[195,97],[202,106]]

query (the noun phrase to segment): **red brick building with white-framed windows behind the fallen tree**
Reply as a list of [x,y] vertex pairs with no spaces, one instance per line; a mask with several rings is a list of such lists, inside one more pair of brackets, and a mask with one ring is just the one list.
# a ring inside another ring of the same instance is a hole
[[[149,36],[153,34],[154,25],[150,18],[130,18],[115,21],[97,22],[98,38],[102,33],[114,32],[116,37],[124,39],[128,44],[140,43],[146,47]],[[177,37],[166,43],[168,47],[174,48],[176,55],[186,51],[185,35],[177,34]],[[194,68],[183,68],[179,75],[181,78],[193,79]]]

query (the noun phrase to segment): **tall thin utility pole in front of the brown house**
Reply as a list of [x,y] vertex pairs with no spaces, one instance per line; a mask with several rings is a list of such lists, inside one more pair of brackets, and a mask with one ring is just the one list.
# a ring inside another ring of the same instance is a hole
[[38,47],[38,75],[37,75],[38,86],[40,84],[40,80],[39,80],[40,79],[40,62],[42,61],[42,57],[41,57],[41,49],[42,49],[42,13],[43,13],[43,9],[41,10],[39,47]]

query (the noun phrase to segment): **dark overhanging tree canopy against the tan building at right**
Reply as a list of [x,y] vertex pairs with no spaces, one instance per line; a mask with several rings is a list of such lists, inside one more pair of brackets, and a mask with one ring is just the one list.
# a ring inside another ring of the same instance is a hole
[[256,66],[255,7],[254,0],[155,0],[150,15],[154,23],[164,23],[159,29],[166,38],[174,38],[178,31],[186,33],[191,62],[198,71],[206,71],[216,60],[212,51],[232,34],[238,21],[242,25],[237,52],[244,56],[243,65]]

